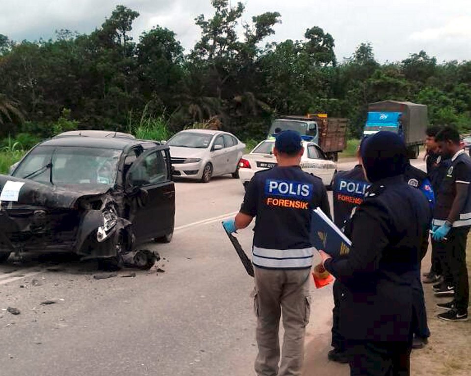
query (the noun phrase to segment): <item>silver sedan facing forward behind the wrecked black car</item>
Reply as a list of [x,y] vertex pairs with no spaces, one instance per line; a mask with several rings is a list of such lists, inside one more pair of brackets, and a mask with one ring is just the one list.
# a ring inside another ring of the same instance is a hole
[[245,144],[231,133],[208,129],[182,130],[167,145],[170,146],[176,177],[207,183],[212,176],[239,176],[238,165]]

